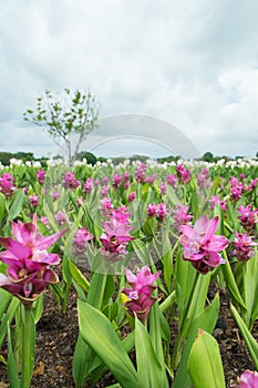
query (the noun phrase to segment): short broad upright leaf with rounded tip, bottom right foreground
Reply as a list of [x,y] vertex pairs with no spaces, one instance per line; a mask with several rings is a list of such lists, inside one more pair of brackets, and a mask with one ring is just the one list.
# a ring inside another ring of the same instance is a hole
[[194,388],[226,388],[219,346],[202,329],[193,345],[188,369]]

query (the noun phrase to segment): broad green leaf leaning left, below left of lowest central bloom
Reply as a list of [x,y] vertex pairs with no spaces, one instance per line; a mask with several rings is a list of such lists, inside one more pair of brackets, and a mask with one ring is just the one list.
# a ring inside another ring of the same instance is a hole
[[136,370],[110,320],[93,306],[78,300],[80,334],[126,388],[137,387]]

